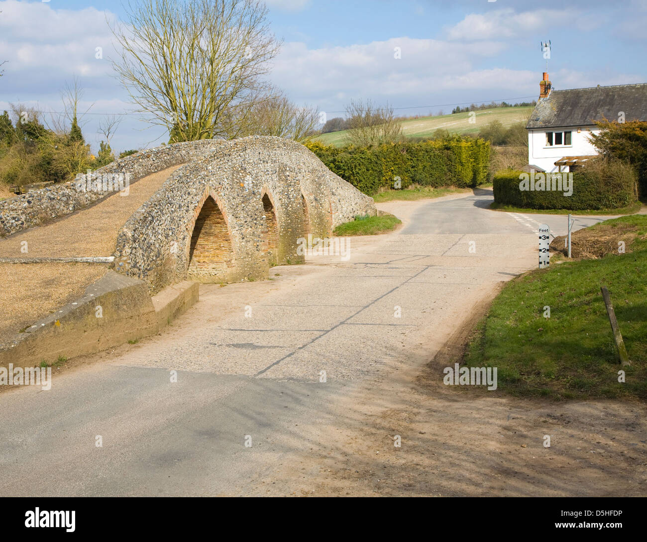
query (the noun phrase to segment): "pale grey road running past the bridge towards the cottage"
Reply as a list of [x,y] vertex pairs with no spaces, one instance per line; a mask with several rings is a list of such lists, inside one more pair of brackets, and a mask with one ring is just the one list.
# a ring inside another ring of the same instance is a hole
[[[565,233],[565,217],[489,201],[383,204],[404,226],[351,238],[348,261],[204,285],[162,334],[55,371],[50,391],[0,394],[0,495],[258,494],[294,453],[325,446],[303,426],[343,426],[340,399],[432,358],[498,283],[535,266],[538,224]],[[292,475],[279,493],[305,476]]]

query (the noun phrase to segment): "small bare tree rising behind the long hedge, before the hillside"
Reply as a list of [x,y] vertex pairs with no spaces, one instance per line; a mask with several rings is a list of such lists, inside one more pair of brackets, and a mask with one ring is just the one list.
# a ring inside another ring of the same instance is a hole
[[402,139],[402,122],[389,105],[379,107],[371,100],[351,101],[346,106],[347,141],[358,147],[393,143]]

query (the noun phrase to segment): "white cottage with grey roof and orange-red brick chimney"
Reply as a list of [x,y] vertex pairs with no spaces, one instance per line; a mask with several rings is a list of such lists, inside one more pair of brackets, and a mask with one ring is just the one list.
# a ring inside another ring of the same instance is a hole
[[575,171],[598,155],[590,135],[600,120],[647,121],[647,83],[554,91],[548,74],[540,82],[537,105],[526,126],[525,171]]

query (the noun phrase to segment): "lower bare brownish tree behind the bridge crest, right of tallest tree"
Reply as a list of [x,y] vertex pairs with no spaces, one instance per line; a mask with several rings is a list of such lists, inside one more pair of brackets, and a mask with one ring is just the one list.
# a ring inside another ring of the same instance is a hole
[[300,107],[285,92],[270,89],[269,95],[252,104],[241,135],[271,135],[300,143],[316,134],[319,114],[313,107]]

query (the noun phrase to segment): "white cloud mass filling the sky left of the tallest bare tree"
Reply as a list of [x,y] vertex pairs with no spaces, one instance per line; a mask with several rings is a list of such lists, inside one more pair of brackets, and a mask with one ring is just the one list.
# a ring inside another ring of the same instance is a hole
[[[59,3],[60,4],[60,3]],[[65,10],[55,3],[0,1],[0,59],[8,60],[0,111],[10,103],[22,103],[40,111],[61,111],[61,90],[78,76],[84,97],[79,111],[124,113],[129,109],[126,91],[113,78],[108,59],[115,52],[112,33],[107,25],[114,21],[110,12],[95,8]],[[102,47],[103,58],[96,58]],[[4,101],[6,100],[6,101]],[[49,121],[50,115],[45,115]],[[98,122],[102,116],[88,114],[83,119],[86,140],[96,143]],[[134,118],[127,117],[120,128],[118,147],[135,147],[144,138],[153,138]]]

